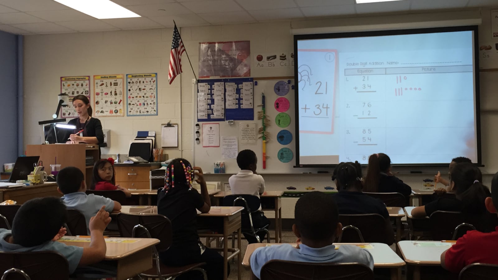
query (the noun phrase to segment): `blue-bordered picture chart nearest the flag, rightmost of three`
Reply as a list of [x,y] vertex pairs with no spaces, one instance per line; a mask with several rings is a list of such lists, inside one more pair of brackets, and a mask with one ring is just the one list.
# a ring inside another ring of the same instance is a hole
[[157,73],[126,75],[126,116],[157,116]]

